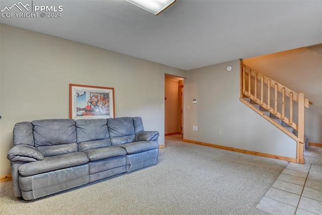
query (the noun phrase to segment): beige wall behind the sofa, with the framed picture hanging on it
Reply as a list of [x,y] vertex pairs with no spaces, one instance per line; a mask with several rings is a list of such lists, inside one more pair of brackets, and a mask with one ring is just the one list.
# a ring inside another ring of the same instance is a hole
[[165,73],[186,71],[2,24],[0,48],[0,176],[11,173],[15,123],[68,118],[70,83],[115,88],[116,117],[141,116],[164,144]]

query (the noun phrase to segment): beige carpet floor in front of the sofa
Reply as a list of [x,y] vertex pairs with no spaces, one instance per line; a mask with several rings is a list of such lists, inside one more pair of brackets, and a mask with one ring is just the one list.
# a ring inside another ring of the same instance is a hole
[[256,208],[288,162],[166,138],[158,164],[33,201],[0,183],[0,214],[268,214]]

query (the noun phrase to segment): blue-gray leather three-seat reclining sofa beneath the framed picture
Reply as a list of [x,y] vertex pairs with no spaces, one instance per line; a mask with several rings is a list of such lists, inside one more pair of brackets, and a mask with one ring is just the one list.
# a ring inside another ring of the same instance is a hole
[[37,199],[157,162],[159,132],[140,117],[45,119],[14,128],[14,193]]

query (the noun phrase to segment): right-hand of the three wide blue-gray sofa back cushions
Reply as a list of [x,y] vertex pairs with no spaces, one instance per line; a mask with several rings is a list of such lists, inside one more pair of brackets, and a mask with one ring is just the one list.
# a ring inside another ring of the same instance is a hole
[[127,144],[135,141],[135,130],[132,117],[107,119],[112,146]]

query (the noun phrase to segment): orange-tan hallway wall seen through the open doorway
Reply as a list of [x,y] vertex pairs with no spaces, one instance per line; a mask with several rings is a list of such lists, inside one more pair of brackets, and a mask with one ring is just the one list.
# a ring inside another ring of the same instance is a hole
[[165,81],[165,133],[179,132],[179,81]]

